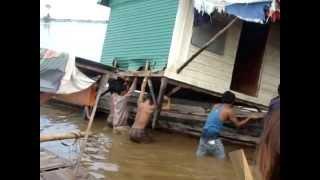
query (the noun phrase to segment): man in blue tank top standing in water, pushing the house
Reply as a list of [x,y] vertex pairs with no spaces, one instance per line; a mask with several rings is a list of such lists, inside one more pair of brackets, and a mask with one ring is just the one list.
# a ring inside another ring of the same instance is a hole
[[224,147],[218,137],[223,128],[223,123],[231,121],[237,127],[240,127],[251,119],[248,117],[245,120],[240,121],[235,117],[232,109],[235,101],[235,95],[232,92],[226,91],[223,93],[221,101],[221,104],[216,104],[213,107],[203,127],[199,146],[196,152],[197,156],[213,155],[219,159],[224,159]]

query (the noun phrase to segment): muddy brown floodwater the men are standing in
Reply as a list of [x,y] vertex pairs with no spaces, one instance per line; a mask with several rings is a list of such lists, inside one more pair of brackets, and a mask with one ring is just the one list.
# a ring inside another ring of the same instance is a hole
[[[161,131],[154,131],[152,144],[136,144],[127,134],[113,134],[106,126],[105,114],[95,118],[87,150],[82,164],[88,168],[91,179],[111,180],[236,180],[229,159],[213,157],[197,158],[198,139]],[[50,134],[85,130],[87,122],[82,119],[79,108],[65,105],[42,105],[40,107],[40,133]],[[63,140],[40,143],[61,157],[75,160],[79,143]],[[244,149],[249,160],[254,149],[225,144],[226,154]]]

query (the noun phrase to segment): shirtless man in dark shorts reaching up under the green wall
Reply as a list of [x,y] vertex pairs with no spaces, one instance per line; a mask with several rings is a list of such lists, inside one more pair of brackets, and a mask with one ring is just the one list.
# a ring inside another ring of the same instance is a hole
[[145,96],[144,101],[138,105],[137,114],[129,131],[130,140],[137,143],[149,143],[152,138],[145,127],[150,121],[150,117],[156,106],[153,104],[149,95]]

